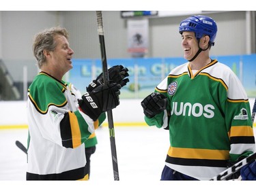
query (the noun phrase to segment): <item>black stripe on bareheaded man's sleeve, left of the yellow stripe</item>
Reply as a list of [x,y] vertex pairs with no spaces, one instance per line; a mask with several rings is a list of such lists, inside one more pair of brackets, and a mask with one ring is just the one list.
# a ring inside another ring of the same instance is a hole
[[60,131],[63,147],[72,148],[72,132],[70,126],[70,115],[68,113],[64,114],[64,117],[60,122]]

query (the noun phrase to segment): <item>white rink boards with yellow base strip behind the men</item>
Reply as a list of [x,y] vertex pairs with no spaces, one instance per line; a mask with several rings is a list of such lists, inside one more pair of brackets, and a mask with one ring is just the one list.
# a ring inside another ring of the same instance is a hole
[[[114,126],[147,126],[141,101],[142,99],[120,99],[120,105],[113,109]],[[252,109],[255,98],[250,98],[249,101]],[[26,107],[26,101],[0,101],[0,129],[27,128]],[[103,126],[108,126],[107,121]]]

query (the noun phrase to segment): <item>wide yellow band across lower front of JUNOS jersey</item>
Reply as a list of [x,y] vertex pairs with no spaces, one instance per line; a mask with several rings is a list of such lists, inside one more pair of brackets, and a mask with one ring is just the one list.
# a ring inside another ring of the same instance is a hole
[[190,149],[182,147],[169,147],[168,155],[175,158],[197,158],[211,160],[229,159],[229,150]]

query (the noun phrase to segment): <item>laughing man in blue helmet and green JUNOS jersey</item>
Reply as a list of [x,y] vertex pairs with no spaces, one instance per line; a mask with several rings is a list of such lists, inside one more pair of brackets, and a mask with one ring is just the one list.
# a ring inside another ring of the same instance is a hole
[[[210,58],[217,33],[208,16],[180,23],[184,58],[141,105],[149,126],[169,130],[161,180],[207,180],[255,152],[251,109],[233,71]],[[241,170],[255,179],[255,164]],[[229,179],[240,176],[240,171]]]

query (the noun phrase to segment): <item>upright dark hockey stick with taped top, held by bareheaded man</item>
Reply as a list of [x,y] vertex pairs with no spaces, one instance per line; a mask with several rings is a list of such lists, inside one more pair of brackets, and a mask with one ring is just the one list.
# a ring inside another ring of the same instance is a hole
[[[109,71],[106,63],[106,49],[105,49],[105,42],[104,42],[102,12],[96,11],[96,15],[97,15],[97,23],[98,23],[98,35],[100,39],[100,52],[101,52],[101,59],[102,59],[103,79],[104,79],[104,84],[109,84]],[[114,180],[119,180],[118,165],[117,165],[117,151],[115,147],[115,129],[113,124],[112,110],[107,111],[107,116],[108,116],[108,122],[109,122],[109,135],[110,135],[110,143],[111,143],[111,155],[112,155],[112,163],[113,163]]]

